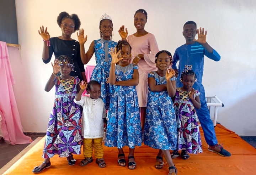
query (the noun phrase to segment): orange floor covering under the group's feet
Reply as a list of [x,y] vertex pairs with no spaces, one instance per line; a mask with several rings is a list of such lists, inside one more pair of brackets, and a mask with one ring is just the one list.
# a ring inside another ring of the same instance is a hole
[[[225,143],[224,148],[230,151],[231,157],[222,157],[218,154],[209,152],[207,144],[204,140],[202,128],[200,128],[202,135],[203,153],[197,155],[190,154],[188,160],[183,160],[180,157],[173,159],[174,164],[178,169],[178,175],[181,174],[197,174],[197,175],[229,175],[229,174],[256,174],[256,149],[242,140],[233,131],[226,129],[224,126],[217,124],[215,127],[216,135],[219,143]],[[32,147],[20,160],[8,169],[4,175],[29,175],[33,174],[34,166],[42,163],[42,149],[44,145],[44,138]],[[51,159],[51,167],[43,170],[40,174],[51,175],[70,175],[70,174],[105,174],[105,175],[167,175],[168,164],[164,159],[164,167],[160,170],[155,169],[155,159],[158,150],[149,148],[148,146],[137,147],[135,150],[135,159],[137,167],[135,170],[129,170],[128,167],[121,167],[117,164],[117,148],[104,148],[104,158],[107,166],[99,168],[94,162],[79,166],[79,162],[83,159],[83,155],[74,155],[77,160],[74,166],[69,166],[65,158],[59,158],[55,155]],[[126,161],[128,161],[128,147],[124,148],[126,154]]]

